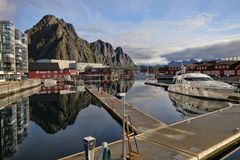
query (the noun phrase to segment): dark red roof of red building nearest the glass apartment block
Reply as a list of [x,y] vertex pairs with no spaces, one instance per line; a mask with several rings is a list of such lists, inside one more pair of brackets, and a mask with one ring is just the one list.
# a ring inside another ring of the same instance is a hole
[[59,71],[58,63],[29,63],[29,71]]

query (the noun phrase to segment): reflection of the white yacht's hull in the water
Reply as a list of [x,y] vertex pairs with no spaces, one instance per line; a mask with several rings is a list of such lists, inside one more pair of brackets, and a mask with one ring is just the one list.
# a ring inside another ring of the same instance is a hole
[[231,106],[230,102],[199,99],[171,92],[169,99],[178,112],[190,117]]

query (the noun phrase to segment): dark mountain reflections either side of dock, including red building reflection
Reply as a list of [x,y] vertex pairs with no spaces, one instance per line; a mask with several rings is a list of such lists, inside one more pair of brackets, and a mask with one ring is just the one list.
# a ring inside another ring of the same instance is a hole
[[[133,83],[134,81],[121,81],[100,85],[107,92],[116,95],[119,92],[127,92]],[[83,87],[42,86],[38,94],[30,97],[31,121],[39,125],[46,133],[55,134],[68,125],[74,124],[78,113],[90,104],[101,107],[94,97],[82,89]],[[79,90],[81,92],[76,92]]]

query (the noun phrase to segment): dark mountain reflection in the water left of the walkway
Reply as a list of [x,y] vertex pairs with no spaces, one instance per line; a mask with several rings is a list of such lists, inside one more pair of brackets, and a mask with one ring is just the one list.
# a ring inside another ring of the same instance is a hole
[[57,133],[74,124],[78,113],[96,104],[88,92],[37,94],[30,97],[31,121],[47,133]]

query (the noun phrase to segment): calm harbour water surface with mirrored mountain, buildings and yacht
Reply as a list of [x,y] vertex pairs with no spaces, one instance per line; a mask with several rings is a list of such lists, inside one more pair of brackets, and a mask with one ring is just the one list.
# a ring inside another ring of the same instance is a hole
[[[229,106],[170,94],[139,80],[101,86],[112,95],[127,92],[127,103],[168,124]],[[1,159],[61,158],[83,151],[85,136],[95,137],[97,146],[119,140],[121,125],[99,102],[86,91],[73,92],[43,87],[1,109]]]

